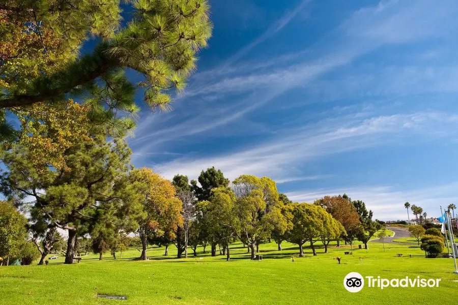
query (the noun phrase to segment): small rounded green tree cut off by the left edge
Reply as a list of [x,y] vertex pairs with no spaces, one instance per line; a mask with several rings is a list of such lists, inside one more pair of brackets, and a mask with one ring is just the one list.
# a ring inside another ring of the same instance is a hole
[[10,201],[0,201],[0,257],[19,257],[27,238],[27,219]]

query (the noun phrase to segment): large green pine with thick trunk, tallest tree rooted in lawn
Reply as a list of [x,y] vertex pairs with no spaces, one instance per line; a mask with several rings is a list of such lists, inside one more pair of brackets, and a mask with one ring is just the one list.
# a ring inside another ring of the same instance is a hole
[[110,222],[129,221],[136,210],[137,194],[126,188],[131,150],[121,139],[106,142],[105,133],[93,133],[91,140],[81,141],[66,150],[70,170],[53,167],[38,171],[30,151],[14,145],[3,156],[7,171],[2,176],[3,192],[19,200],[35,199],[31,215],[45,218],[54,227],[68,231],[65,263],[73,263],[77,236],[89,232],[91,223],[100,218]]

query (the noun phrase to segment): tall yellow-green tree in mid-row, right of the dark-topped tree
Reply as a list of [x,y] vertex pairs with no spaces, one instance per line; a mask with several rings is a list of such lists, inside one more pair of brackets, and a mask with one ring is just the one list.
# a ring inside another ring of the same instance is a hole
[[242,175],[233,181],[233,186],[240,238],[248,243],[251,259],[255,259],[256,240],[268,238],[275,228],[283,232],[287,228],[281,214],[283,203],[278,199],[275,182],[268,177]]

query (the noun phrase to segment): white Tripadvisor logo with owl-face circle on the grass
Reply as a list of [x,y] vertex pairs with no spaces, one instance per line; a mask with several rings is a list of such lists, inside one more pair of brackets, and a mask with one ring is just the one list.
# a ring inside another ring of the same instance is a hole
[[387,287],[439,287],[441,279],[420,279],[420,277],[402,279],[382,279],[380,277],[363,277],[358,272],[350,272],[344,278],[344,287],[350,292],[358,292],[364,287],[364,278],[367,287],[384,289]]

